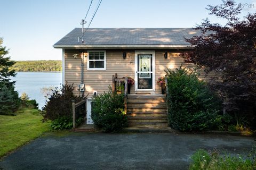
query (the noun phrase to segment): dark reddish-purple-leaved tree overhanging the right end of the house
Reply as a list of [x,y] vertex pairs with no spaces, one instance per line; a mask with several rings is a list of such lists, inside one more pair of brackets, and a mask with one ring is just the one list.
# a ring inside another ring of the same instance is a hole
[[[195,48],[183,52],[187,63],[195,63],[207,72],[220,73],[210,81],[219,92],[224,107],[229,113],[247,114],[255,121],[256,109],[256,13],[239,18],[241,4],[222,0],[221,5],[206,8],[210,15],[226,19],[226,25],[203,20],[195,29],[200,36],[186,39]],[[216,81],[218,79],[218,81]]]

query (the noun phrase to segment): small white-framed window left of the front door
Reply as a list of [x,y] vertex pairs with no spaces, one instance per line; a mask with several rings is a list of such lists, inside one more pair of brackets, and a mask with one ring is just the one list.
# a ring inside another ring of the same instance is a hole
[[89,51],[87,70],[106,70],[106,52]]

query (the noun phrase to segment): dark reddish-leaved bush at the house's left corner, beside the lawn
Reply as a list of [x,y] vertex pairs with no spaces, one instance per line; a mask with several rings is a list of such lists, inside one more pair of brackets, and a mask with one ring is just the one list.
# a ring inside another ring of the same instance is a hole
[[[72,128],[72,100],[75,100],[77,103],[83,99],[82,97],[75,96],[73,90],[73,84],[68,85],[67,83],[61,88],[52,89],[49,100],[42,108],[44,120],[52,121],[52,129],[63,130]],[[80,118],[78,118],[78,122],[82,122]]]

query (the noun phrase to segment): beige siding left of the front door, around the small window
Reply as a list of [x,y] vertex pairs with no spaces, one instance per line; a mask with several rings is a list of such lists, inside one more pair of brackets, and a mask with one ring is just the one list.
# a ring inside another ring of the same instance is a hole
[[[69,84],[74,83],[77,87],[81,82],[81,58],[73,58],[78,54],[76,50],[65,50],[65,80]],[[118,77],[134,77],[134,52],[126,52],[126,59],[123,59],[123,51],[106,51],[106,70],[87,70],[87,58],[84,59],[84,84],[85,95],[92,97],[93,91],[102,94],[109,91],[112,86],[112,76],[117,73]],[[85,53],[88,56],[87,53]],[[132,62],[132,64],[131,64]],[[78,90],[75,90],[79,94]],[[134,86],[131,88],[134,93]]]

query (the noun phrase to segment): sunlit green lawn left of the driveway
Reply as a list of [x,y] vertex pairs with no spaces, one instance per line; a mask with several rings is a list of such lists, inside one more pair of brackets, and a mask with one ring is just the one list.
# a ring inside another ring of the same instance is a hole
[[42,123],[37,109],[22,108],[15,114],[0,115],[0,157],[50,131],[50,123]]

